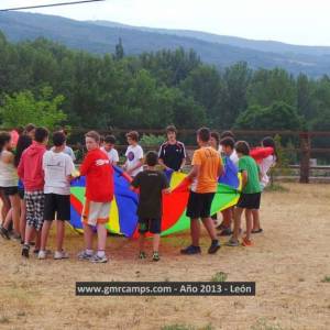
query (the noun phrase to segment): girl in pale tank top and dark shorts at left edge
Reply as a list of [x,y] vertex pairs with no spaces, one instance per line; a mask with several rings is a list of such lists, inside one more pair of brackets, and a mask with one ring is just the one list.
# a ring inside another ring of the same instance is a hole
[[10,200],[10,211],[7,213],[0,233],[10,240],[9,227],[13,221],[15,240],[21,240],[20,235],[20,197],[18,189],[18,173],[14,166],[14,154],[11,152],[11,135],[8,132],[0,133],[0,187]]

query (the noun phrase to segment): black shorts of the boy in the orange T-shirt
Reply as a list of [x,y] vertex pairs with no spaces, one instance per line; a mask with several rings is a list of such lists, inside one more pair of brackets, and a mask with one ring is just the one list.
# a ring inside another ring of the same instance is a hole
[[209,218],[213,197],[215,193],[199,194],[190,191],[186,212],[187,217],[190,219]]

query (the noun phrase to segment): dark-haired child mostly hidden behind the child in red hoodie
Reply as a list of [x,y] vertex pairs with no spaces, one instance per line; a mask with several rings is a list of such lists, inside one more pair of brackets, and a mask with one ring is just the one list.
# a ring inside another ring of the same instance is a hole
[[[19,138],[15,158],[14,158],[15,167],[19,166],[24,150],[28,148],[31,144],[32,144],[32,138],[29,136],[28,134],[22,134]],[[21,244],[24,244],[25,228],[26,228],[26,204],[24,200],[24,185],[21,179],[19,179],[19,196],[21,199],[21,217],[20,217]]]

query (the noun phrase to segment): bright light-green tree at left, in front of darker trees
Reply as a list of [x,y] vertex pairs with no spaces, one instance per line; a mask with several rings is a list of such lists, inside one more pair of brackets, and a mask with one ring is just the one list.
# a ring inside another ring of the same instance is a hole
[[31,91],[15,92],[4,96],[4,105],[0,108],[2,127],[7,129],[34,123],[53,129],[66,119],[66,114],[58,108],[64,97],[52,96],[51,87],[44,87],[37,98]]

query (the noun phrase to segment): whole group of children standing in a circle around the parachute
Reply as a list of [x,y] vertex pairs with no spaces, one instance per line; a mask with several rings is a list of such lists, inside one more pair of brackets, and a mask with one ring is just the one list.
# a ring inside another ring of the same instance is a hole
[[[127,134],[129,147],[125,153],[123,169],[132,177],[131,189],[139,191],[139,257],[145,258],[145,234],[153,234],[152,260],[160,260],[160,237],[162,228],[162,197],[170,194],[168,182],[157,165],[165,169],[180,170],[186,162],[185,145],[176,141],[176,129],[167,128],[167,142],[160,153],[148,152],[145,156],[139,145],[139,134],[132,131]],[[66,145],[66,133],[57,131],[52,136],[53,147],[47,151],[50,133],[44,128],[30,124],[20,135],[13,152],[11,135],[0,132],[0,197],[2,200],[2,224],[0,233],[4,239],[19,240],[22,244],[22,256],[29,257],[34,244],[34,253],[40,260],[50,254],[47,238],[56,220],[55,260],[67,258],[63,249],[65,221],[70,220],[70,183],[75,179],[74,153]],[[86,200],[81,213],[85,249],[78,253],[79,260],[106,263],[107,229],[111,201],[114,194],[113,166],[119,163],[112,135],[101,136],[90,131],[85,135],[88,151],[79,175],[86,176]],[[202,128],[197,132],[199,148],[195,151],[191,170],[186,180],[190,191],[187,216],[191,219],[191,244],[182,250],[183,254],[200,253],[199,235],[201,219],[210,235],[208,253],[213,254],[220,248],[218,235],[231,234],[228,245],[238,246],[241,233],[241,217],[245,210],[246,235],[243,245],[252,244],[251,233],[261,232],[258,208],[261,191],[267,185],[267,172],[276,162],[276,152],[257,165],[250,157],[249,144],[234,142],[231,132],[221,136]],[[102,144],[102,145],[101,145]],[[263,140],[264,146],[275,150],[271,138]],[[222,161],[223,157],[223,161]],[[242,189],[239,202],[222,211],[222,222],[216,228],[211,219],[211,204],[217,193],[218,179],[226,170],[230,160],[242,174]],[[224,165],[223,165],[224,164]],[[233,222],[233,231],[231,231]],[[97,251],[92,248],[92,238],[97,230]],[[220,232],[217,233],[216,229]]]

